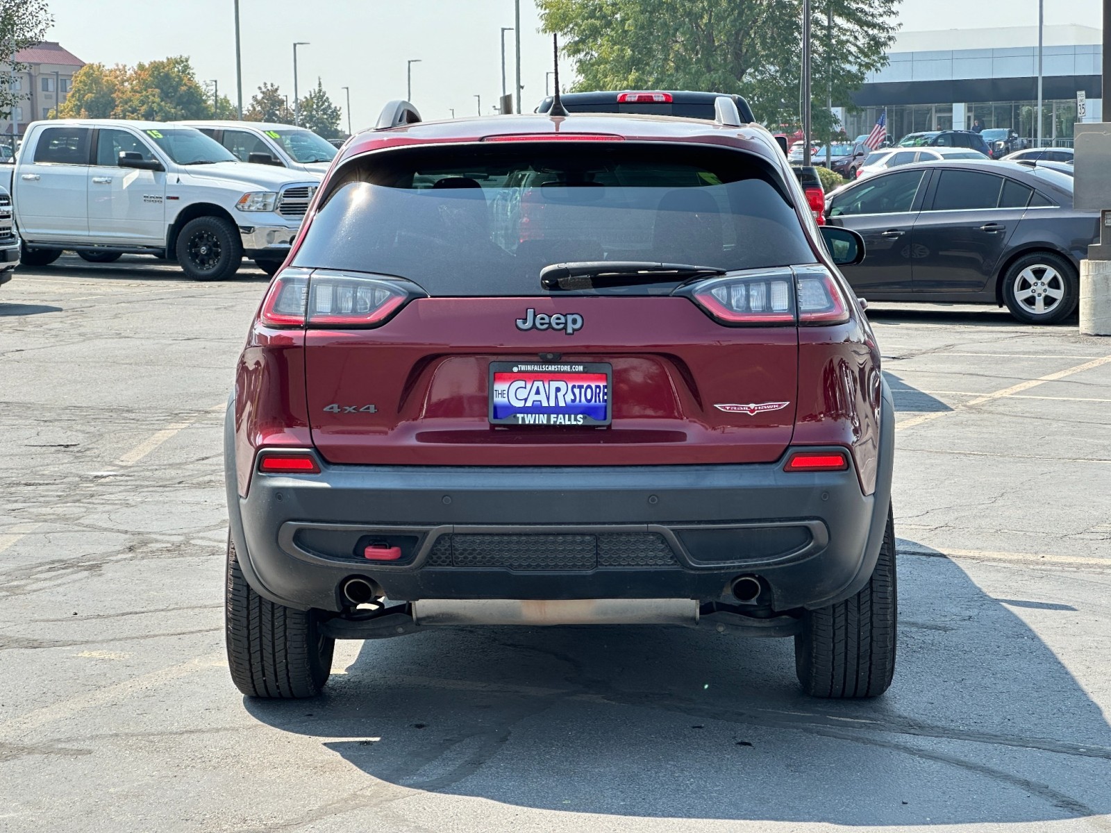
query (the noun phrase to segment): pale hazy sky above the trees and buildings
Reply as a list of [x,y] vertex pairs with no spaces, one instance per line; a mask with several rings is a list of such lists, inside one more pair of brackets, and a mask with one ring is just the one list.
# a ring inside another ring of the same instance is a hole
[[[742,1],[742,0],[739,0]],[[232,0],[49,0],[50,40],[88,62],[127,63],[186,54],[198,78],[217,79],[236,101]],[[1045,22],[1100,26],[1100,0],[1048,0]],[[243,106],[263,81],[293,92],[294,40],[303,96],[320,77],[343,107],[351,88],[352,124],[372,124],[386,101],[406,96],[413,64],[413,102],[426,119],[491,112],[501,94],[500,27],[513,26],[513,0],[240,0]],[[903,0],[905,30],[1033,26],[1037,0],[968,2]],[[551,40],[538,33],[532,0],[521,0],[521,82],[527,112],[544,94]],[[513,33],[506,33],[508,87],[513,86]],[[346,119],[346,116],[344,116]],[[344,121],[346,128],[346,121]]]

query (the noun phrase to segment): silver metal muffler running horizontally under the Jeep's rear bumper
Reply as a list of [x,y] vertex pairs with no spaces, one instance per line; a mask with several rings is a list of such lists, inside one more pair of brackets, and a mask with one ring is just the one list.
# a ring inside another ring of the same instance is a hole
[[431,624],[698,624],[693,599],[422,599],[413,621]]

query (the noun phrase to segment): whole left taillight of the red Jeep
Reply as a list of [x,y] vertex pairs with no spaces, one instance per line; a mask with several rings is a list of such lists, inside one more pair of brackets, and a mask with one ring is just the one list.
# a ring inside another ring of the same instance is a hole
[[379,327],[417,284],[359,272],[286,269],[270,285],[260,319],[270,327]]

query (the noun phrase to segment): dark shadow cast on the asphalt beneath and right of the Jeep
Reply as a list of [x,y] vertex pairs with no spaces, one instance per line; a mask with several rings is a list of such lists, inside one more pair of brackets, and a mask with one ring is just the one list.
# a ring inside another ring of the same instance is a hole
[[368,787],[486,799],[507,819],[1002,825],[1111,812],[1111,727],[1011,610],[1038,600],[993,599],[941,553],[899,549],[899,670],[872,701],[805,697],[789,640],[454,628],[364,643],[317,700],[246,707],[319,737]]

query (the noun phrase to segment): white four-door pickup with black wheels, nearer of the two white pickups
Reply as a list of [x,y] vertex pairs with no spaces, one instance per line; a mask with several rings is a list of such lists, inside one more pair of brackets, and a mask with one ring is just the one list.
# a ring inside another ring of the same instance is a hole
[[101,263],[153,254],[199,281],[230,278],[244,255],[277,271],[320,184],[240,162],[194,128],[108,119],[33,122],[0,187],[6,175],[23,265],[63,249]]

